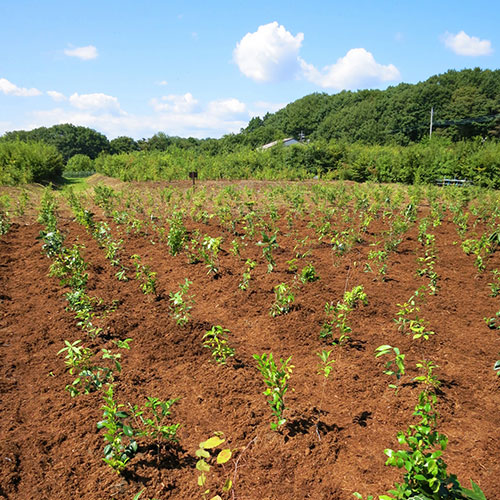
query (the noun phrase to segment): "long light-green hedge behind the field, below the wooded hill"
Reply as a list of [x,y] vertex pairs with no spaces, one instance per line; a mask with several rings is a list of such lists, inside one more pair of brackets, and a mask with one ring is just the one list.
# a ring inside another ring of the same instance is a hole
[[196,170],[200,179],[319,177],[426,184],[455,177],[500,188],[500,143],[494,140],[452,143],[436,138],[410,146],[318,141],[216,155],[173,146],[162,152],[102,155],[94,165],[96,171],[124,181],[187,179],[188,172]]

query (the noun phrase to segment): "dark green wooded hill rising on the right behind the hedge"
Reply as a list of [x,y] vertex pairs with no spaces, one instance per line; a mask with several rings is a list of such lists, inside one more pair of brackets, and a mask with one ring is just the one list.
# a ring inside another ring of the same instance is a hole
[[276,136],[401,144],[429,134],[453,141],[500,134],[500,70],[450,70],[425,82],[386,90],[311,94],[263,119],[254,118],[239,142],[259,145]]

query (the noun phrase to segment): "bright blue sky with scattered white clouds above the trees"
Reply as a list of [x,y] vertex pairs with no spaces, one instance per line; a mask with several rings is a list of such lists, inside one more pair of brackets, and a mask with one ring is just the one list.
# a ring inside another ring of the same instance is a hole
[[0,134],[220,137],[312,92],[500,67],[500,3],[1,0]]

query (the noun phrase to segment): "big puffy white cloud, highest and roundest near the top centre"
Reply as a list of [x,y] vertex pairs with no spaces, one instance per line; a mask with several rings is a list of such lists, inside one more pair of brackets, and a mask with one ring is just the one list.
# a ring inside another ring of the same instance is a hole
[[237,43],[233,58],[240,71],[257,82],[292,78],[300,69],[298,55],[303,39],[303,33],[293,36],[275,21],[247,33]]

